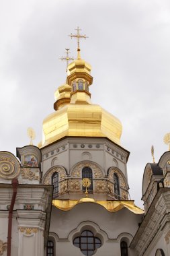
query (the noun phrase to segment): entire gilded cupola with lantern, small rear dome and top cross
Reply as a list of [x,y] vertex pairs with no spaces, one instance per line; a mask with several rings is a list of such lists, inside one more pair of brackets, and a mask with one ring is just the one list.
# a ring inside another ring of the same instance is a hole
[[[78,42],[81,36],[77,29]],[[71,34],[72,37],[77,37]],[[67,57],[68,59],[68,57]],[[43,139],[40,148],[65,136],[108,137],[120,145],[122,124],[98,104],[91,103],[89,86],[93,82],[91,65],[81,59],[79,43],[77,59],[67,67],[67,84],[55,92],[54,113],[43,121]]]

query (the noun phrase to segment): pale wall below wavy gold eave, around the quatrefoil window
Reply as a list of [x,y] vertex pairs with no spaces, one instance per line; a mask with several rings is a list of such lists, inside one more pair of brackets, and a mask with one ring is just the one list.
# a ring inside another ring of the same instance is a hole
[[[130,242],[138,228],[140,218],[140,215],[133,214],[125,208],[112,213],[95,203],[81,203],[68,212],[52,207],[50,232],[58,237],[56,256],[67,256],[68,253],[82,256],[80,250],[73,245],[73,239],[86,229],[91,230],[101,239],[102,245],[95,255],[119,256],[120,234],[124,233]],[[130,250],[129,255],[134,255],[133,250]]]

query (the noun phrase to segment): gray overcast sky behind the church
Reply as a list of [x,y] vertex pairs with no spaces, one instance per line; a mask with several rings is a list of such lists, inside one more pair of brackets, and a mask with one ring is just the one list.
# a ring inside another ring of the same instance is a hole
[[169,127],[170,2],[167,0],[1,0],[0,150],[15,154],[28,144],[27,128],[42,139],[53,112],[54,91],[65,83],[65,48],[79,26],[81,57],[92,65],[91,99],[122,121],[122,146],[130,151],[130,195],[137,205],[142,174],[167,151]]

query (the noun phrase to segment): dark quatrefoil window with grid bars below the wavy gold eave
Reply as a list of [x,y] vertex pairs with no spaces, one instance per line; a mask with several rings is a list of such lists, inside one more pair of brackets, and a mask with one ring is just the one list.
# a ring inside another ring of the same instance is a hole
[[101,241],[89,230],[85,230],[74,239],[73,244],[81,249],[81,253],[87,256],[93,255],[94,251],[101,247]]

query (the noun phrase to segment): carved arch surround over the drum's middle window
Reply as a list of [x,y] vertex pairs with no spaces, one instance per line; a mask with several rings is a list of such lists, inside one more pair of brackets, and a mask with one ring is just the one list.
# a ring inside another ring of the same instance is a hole
[[91,170],[93,172],[93,178],[95,178],[95,179],[103,178],[104,171],[101,168],[101,166],[99,166],[95,162],[91,162],[91,161],[81,161],[81,162],[75,164],[75,166],[73,166],[73,168],[71,169],[71,177],[81,178],[82,177],[82,169],[84,167],[91,168]]

